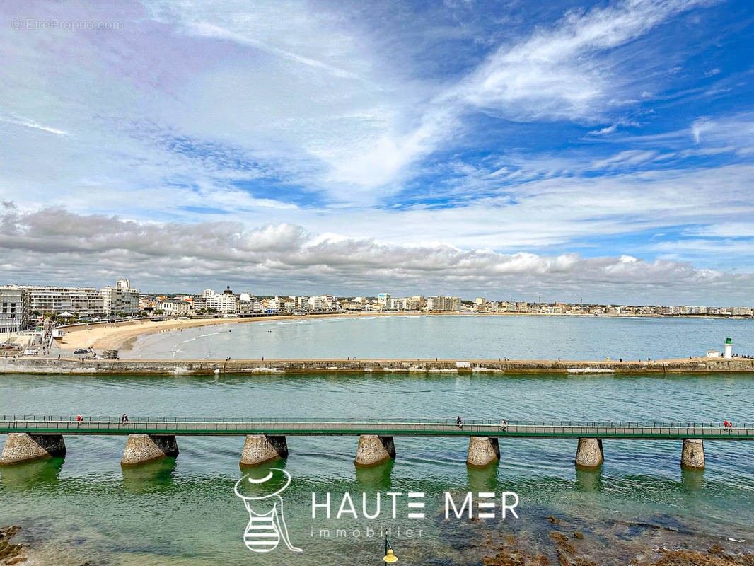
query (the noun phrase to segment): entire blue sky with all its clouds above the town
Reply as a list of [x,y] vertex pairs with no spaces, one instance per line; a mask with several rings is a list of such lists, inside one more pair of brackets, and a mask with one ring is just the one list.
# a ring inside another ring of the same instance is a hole
[[736,0],[8,2],[0,272],[752,304],[752,32]]

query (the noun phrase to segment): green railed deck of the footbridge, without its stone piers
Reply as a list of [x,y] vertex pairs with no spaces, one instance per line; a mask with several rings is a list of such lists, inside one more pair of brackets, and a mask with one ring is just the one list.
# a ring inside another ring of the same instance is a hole
[[539,421],[468,419],[333,419],[254,417],[120,417],[0,415],[0,433],[168,434],[168,435],[414,435],[530,438],[703,438],[754,440],[754,423],[678,423],[670,421]]

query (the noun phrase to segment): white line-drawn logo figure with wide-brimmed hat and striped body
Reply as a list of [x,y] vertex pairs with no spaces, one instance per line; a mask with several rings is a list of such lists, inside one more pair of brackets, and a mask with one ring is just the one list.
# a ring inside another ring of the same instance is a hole
[[253,478],[246,474],[236,481],[233,491],[244,500],[244,506],[249,512],[249,524],[244,531],[247,549],[270,552],[283,540],[291,552],[302,552],[302,549],[290,543],[283,516],[283,498],[280,494],[288,484],[290,474],[280,468],[271,468],[263,478]]

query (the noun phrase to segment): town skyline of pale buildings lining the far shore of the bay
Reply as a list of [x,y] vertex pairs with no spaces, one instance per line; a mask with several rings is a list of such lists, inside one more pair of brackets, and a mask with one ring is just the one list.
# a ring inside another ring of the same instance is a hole
[[[72,320],[170,316],[253,316],[309,313],[472,312],[536,315],[713,315],[752,317],[754,306],[660,305],[630,303],[584,303],[536,300],[499,300],[494,297],[461,299],[450,295],[414,294],[401,297],[388,291],[379,294],[336,296],[332,294],[265,295],[204,288],[201,293],[161,294],[139,290],[130,279],[101,289],[53,285],[0,285],[0,331],[33,330],[49,318],[58,324]],[[160,320],[164,320],[161,318]]]

